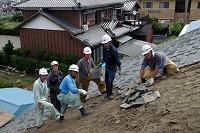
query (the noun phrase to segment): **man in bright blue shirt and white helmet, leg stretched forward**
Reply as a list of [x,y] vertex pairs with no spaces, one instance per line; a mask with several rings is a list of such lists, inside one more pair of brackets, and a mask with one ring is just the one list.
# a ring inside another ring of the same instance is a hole
[[81,112],[82,117],[90,115],[92,112],[86,111],[82,105],[80,98],[75,94],[87,95],[83,89],[75,87],[75,79],[78,78],[79,68],[77,65],[72,64],[69,67],[69,74],[62,80],[60,84],[60,94],[57,96],[61,103],[60,122],[64,121],[64,113],[68,108],[68,104],[77,106]]

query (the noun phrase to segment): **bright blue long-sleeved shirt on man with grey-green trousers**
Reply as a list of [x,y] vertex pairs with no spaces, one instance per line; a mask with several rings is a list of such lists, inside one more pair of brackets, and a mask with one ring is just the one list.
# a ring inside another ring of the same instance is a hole
[[75,87],[75,80],[72,78],[71,74],[68,74],[61,82],[60,91],[64,94],[68,92],[72,92],[74,94],[78,94],[78,88]]

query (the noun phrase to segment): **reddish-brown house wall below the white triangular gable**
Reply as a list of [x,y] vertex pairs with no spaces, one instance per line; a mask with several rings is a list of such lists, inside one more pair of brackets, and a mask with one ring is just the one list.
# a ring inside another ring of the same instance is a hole
[[[31,37],[30,37],[31,36]],[[31,49],[34,55],[37,49],[44,49],[48,52],[76,54],[79,58],[83,56],[84,44],[72,39],[66,31],[20,29],[21,48]]]

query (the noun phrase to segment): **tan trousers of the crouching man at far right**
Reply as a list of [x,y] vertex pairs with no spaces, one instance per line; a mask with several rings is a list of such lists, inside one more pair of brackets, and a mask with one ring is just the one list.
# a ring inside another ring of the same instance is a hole
[[[166,69],[166,72],[168,74],[173,74],[173,73],[179,71],[178,66],[171,60],[169,60],[169,62],[167,63],[167,65],[165,66],[164,69]],[[151,68],[145,69],[143,79],[146,79],[146,80],[150,79],[153,73],[154,73],[153,69],[151,69]]]

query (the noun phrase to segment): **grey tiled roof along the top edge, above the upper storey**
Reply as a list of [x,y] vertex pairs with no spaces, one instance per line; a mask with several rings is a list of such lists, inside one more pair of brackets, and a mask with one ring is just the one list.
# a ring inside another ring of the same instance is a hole
[[122,4],[127,0],[26,0],[17,4],[15,7],[19,8],[51,8],[51,7],[63,7],[63,8],[91,8],[102,7],[106,5]]

